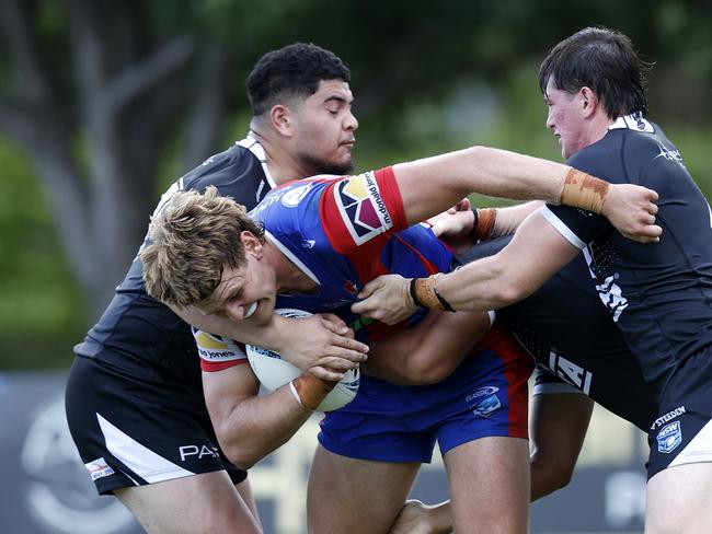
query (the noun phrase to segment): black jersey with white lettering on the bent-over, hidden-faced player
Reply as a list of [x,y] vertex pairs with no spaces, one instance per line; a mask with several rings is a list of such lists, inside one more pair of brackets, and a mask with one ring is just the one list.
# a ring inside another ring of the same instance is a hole
[[[458,259],[491,256],[510,239],[474,245]],[[654,390],[601,304],[581,255],[531,295],[497,310],[496,317],[537,362],[535,394],[569,393],[573,386],[647,431],[657,415]]]

